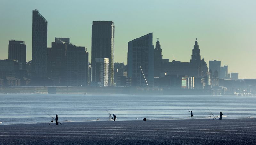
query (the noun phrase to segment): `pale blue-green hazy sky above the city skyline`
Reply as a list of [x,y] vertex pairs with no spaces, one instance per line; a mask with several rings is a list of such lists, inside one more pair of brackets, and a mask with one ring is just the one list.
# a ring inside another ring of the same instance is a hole
[[37,9],[48,21],[48,47],[54,37],[69,37],[91,55],[92,21],[114,21],[115,62],[127,62],[128,41],[153,32],[163,58],[189,62],[197,38],[207,64],[221,60],[239,78],[256,78],[255,7],[254,0],[0,0],[0,59],[8,59],[8,41],[15,39],[25,41],[31,60]]

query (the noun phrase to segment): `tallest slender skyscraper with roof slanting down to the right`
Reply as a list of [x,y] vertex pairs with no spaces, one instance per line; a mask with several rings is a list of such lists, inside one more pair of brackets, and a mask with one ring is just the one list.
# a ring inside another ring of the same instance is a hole
[[45,77],[47,66],[47,21],[33,10],[32,20],[32,73],[34,77]]

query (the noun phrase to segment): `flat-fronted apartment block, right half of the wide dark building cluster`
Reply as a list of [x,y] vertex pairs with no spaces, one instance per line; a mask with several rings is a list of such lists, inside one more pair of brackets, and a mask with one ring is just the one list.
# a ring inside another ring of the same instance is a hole
[[88,52],[85,47],[67,44],[66,85],[88,85]]

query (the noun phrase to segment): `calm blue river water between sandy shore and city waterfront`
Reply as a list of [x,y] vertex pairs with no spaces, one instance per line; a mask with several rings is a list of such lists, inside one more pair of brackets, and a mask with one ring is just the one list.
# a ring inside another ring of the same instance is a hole
[[[210,109],[225,118],[256,117],[256,97],[252,96],[181,96],[181,95],[52,95],[0,94],[0,125],[49,122],[116,121],[147,119],[207,119]],[[188,110],[193,110],[190,118]],[[98,119],[98,120],[97,120]]]

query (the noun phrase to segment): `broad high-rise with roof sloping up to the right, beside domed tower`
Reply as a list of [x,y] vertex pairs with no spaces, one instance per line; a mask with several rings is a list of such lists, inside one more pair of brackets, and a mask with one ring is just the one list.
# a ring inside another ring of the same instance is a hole
[[154,85],[154,45],[152,45],[152,37],[153,33],[149,33],[128,42],[128,77],[132,78],[133,86],[147,86],[147,83],[148,86]]

